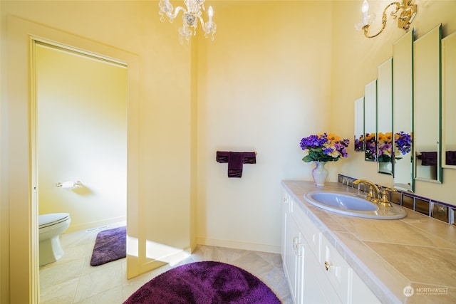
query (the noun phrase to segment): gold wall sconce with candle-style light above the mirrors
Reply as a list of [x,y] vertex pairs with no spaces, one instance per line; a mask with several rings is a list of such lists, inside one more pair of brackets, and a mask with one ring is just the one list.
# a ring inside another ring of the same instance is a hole
[[[399,28],[403,28],[405,31],[408,31],[410,23],[412,23],[413,19],[415,19],[417,10],[417,5],[412,4],[412,2],[413,0],[403,0],[402,3],[396,1],[388,4],[388,6],[386,6],[385,9],[383,9],[382,28],[380,29],[380,31],[378,31],[378,33],[369,35],[369,27],[371,26],[371,23],[373,23],[373,21],[375,20],[375,14],[368,14],[369,4],[367,0],[364,0],[363,5],[361,6],[361,11],[363,12],[363,19],[356,23],[355,28],[358,31],[363,30],[364,36],[366,36],[367,38],[373,38],[380,35],[380,33],[383,32],[386,26],[386,11],[390,8],[390,6],[395,6],[395,10],[390,13],[390,16],[393,16],[393,19],[398,19]],[[399,10],[402,11],[398,16],[397,14]]]

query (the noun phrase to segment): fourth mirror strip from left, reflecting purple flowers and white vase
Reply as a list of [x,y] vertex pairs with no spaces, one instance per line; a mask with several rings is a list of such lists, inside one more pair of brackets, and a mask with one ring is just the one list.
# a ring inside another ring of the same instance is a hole
[[412,105],[413,36],[409,31],[393,44],[393,186],[413,192]]

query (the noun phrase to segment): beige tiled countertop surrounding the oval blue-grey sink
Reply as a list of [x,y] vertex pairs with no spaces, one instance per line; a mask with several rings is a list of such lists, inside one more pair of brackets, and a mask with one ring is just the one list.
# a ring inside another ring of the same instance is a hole
[[[340,183],[282,181],[382,303],[456,303],[456,227],[405,209],[403,219],[363,219],[312,206],[311,191],[358,193]],[[410,286],[411,288],[408,288]],[[404,293],[404,288],[413,295]]]

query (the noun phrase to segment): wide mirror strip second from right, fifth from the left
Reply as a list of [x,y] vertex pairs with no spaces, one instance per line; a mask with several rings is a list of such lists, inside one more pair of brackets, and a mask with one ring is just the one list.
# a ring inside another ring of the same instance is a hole
[[440,163],[440,40],[442,25],[415,41],[413,145],[415,179],[442,182]]

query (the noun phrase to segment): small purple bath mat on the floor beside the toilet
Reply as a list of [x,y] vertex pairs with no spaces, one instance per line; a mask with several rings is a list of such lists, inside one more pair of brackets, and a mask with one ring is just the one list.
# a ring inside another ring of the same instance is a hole
[[97,234],[90,265],[102,265],[125,256],[127,256],[127,227],[103,230]]

